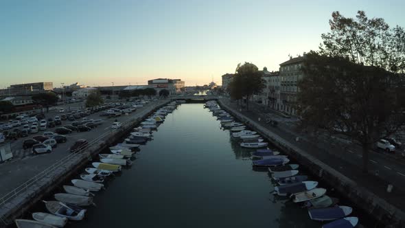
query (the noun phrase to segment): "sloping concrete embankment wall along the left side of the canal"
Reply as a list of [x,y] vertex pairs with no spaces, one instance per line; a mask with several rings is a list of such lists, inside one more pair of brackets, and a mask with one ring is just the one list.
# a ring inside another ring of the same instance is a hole
[[82,170],[88,166],[89,161],[97,157],[100,151],[108,148],[115,141],[124,137],[124,135],[127,135],[142,119],[168,102],[170,100],[160,101],[142,111],[135,112],[132,114],[133,117],[123,124],[119,130],[113,130],[105,135],[100,135],[97,140],[91,141],[89,147],[82,152],[54,164],[54,168],[50,172],[45,173],[38,179],[34,179],[33,183],[28,183],[29,186],[25,187],[23,191],[19,190],[15,195],[11,196],[12,198],[9,201],[2,204],[0,208],[0,227],[8,227],[8,225],[14,223],[15,218],[26,216],[33,205],[50,192],[53,192],[56,187],[65,183],[68,179],[72,179],[78,170]]

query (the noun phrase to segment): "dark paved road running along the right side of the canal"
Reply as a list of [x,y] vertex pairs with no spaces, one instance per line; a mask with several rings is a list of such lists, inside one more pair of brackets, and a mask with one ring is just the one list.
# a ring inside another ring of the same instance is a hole
[[[237,109],[235,102],[222,99],[222,102]],[[328,166],[341,172],[360,185],[367,187],[371,192],[386,199],[393,205],[405,209],[405,163],[401,159],[395,159],[396,155],[371,152],[369,157],[369,174],[362,173],[362,153],[357,144],[342,143],[325,135],[310,137],[305,133],[298,133],[295,126],[296,120],[285,119],[276,112],[270,111],[270,116],[279,122],[277,127],[265,123],[268,111],[263,111],[255,104],[250,105],[250,111],[242,110],[242,114],[256,122],[262,122],[262,126],[270,129],[273,133],[289,141],[291,144],[305,150]],[[260,117],[260,121],[259,121]],[[296,138],[299,137],[299,141]],[[393,184],[393,192],[387,193],[388,184]]]

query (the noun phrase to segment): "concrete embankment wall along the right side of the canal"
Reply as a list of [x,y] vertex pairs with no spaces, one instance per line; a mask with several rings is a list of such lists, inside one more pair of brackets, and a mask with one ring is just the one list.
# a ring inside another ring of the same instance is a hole
[[387,203],[383,198],[376,196],[367,190],[367,188],[358,185],[347,176],[331,168],[319,159],[316,159],[316,157],[308,154],[308,152],[301,150],[297,146],[279,137],[253,119],[242,115],[220,100],[218,103],[222,109],[228,111],[240,119],[241,122],[255,129],[289,157],[297,160],[301,166],[305,167],[314,176],[319,177],[319,179],[327,185],[333,186],[336,192],[346,196],[356,207],[362,209],[370,216],[373,216],[376,220],[379,220],[385,227],[405,227],[405,213],[401,209]]

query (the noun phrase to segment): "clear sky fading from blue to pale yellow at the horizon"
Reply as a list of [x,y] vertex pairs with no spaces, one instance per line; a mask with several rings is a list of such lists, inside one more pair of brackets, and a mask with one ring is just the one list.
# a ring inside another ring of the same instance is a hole
[[278,71],[316,50],[332,12],[405,27],[405,1],[0,1],[0,89],[29,82],[221,84],[239,62]]

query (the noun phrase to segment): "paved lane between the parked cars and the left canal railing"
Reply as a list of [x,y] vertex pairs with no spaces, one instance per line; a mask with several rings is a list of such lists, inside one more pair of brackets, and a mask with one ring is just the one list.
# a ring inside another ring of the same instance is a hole
[[[157,101],[162,102],[162,101]],[[122,117],[117,117],[119,122],[125,122],[127,119],[134,117],[139,111],[146,109],[152,105],[157,104],[157,102],[151,102],[143,106],[143,108],[131,113],[130,115],[122,115]],[[55,115],[56,113],[54,113]],[[106,117],[100,117],[100,113],[94,113],[87,116],[89,119],[104,119],[104,124],[97,126],[93,130],[84,133],[72,133],[67,135],[67,142],[65,144],[58,144],[57,148],[54,148],[51,153],[43,155],[30,155],[29,152],[24,152],[24,156],[21,159],[12,159],[11,161],[0,164],[0,196],[7,194],[15,187],[18,187],[32,176],[38,172],[44,170],[52,163],[55,163],[62,157],[69,155],[69,148],[74,144],[77,139],[87,139],[91,141],[97,136],[111,130],[111,124],[115,118],[108,119]],[[67,121],[63,122],[66,125]],[[28,138],[28,137],[25,137]],[[13,148],[20,148],[21,141],[16,141]]]

